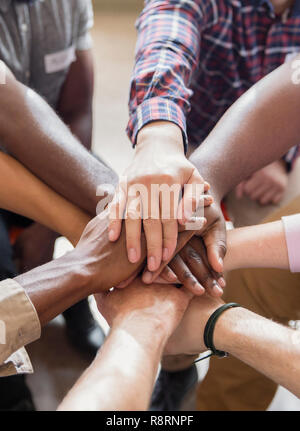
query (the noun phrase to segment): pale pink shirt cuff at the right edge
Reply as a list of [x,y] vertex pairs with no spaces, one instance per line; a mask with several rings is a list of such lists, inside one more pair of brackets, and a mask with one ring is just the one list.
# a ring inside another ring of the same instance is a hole
[[300,272],[300,214],[282,217],[291,272]]

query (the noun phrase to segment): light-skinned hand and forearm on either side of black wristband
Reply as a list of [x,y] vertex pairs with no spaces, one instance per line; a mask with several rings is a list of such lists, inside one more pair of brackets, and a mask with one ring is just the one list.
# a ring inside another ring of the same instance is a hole
[[[167,354],[195,355],[207,350],[204,327],[224,303],[208,295],[194,299],[171,337]],[[216,349],[230,353],[300,396],[300,333],[244,308],[232,308],[218,319]],[[226,360],[226,359],[225,359]]]

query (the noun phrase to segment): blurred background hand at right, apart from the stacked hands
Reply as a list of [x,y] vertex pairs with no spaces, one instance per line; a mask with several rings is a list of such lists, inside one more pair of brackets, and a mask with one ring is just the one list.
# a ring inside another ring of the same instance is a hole
[[236,187],[238,199],[244,195],[261,205],[279,204],[288,185],[286,163],[277,160],[260,169]]

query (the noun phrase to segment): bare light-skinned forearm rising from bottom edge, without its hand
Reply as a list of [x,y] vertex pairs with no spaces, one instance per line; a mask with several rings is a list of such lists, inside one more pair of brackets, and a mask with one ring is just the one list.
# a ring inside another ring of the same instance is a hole
[[146,410],[166,335],[134,316],[115,325],[59,410]]

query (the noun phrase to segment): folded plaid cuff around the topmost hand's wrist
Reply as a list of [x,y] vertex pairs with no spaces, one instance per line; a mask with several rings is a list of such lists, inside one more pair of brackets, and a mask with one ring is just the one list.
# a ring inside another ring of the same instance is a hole
[[186,118],[182,109],[172,100],[163,97],[153,97],[139,105],[131,116],[127,127],[127,134],[133,146],[139,131],[153,121],[170,121],[181,128],[184,150],[187,151]]

